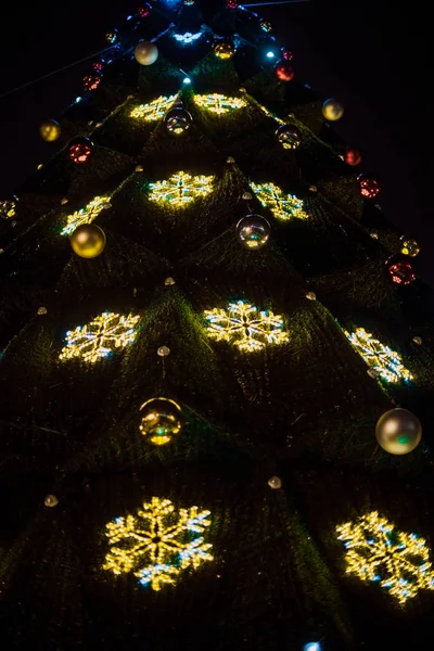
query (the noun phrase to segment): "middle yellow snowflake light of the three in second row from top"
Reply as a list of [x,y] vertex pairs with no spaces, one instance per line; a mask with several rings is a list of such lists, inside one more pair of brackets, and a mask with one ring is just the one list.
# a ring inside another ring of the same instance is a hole
[[213,191],[214,176],[190,176],[184,171],[174,174],[167,181],[150,183],[150,201],[183,208],[195,199],[203,199]]

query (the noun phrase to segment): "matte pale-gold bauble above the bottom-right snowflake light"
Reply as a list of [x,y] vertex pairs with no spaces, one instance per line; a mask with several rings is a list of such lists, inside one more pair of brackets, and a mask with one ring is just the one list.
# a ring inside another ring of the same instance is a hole
[[420,420],[407,409],[391,409],[375,425],[379,445],[391,455],[408,455],[422,438]]

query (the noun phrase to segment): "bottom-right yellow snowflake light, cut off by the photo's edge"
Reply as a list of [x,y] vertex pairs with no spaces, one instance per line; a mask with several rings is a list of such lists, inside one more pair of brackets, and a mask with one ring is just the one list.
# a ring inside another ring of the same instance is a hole
[[337,526],[336,532],[347,549],[347,574],[380,582],[399,603],[422,588],[434,590],[430,550],[423,538],[396,531],[376,511],[362,515],[356,524]]

